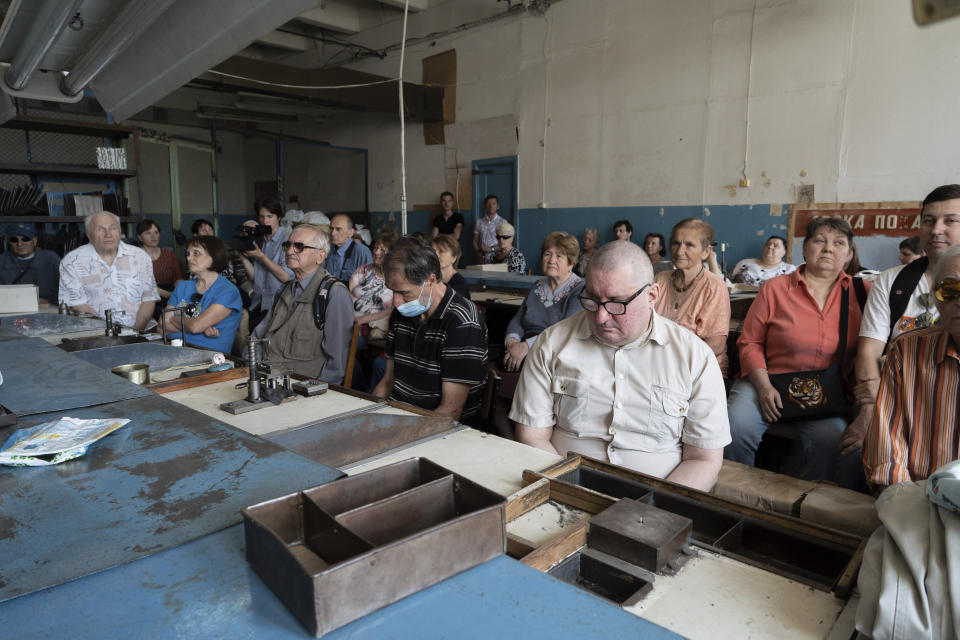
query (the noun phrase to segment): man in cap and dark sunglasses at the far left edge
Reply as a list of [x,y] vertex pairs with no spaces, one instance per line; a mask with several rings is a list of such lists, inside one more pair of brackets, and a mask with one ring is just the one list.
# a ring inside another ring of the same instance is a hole
[[60,258],[37,248],[37,228],[27,222],[7,225],[7,251],[0,255],[0,284],[35,284],[40,299],[56,303],[60,286]]

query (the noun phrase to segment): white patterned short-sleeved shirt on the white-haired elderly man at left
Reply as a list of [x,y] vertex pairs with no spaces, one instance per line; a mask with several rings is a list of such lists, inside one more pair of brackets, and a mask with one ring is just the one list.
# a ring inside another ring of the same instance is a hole
[[93,307],[98,316],[113,311],[114,322],[132,327],[144,302],[160,299],[153,278],[153,263],[147,252],[125,242],[117,247],[113,264],[107,264],[85,244],[60,261],[60,302],[71,307]]

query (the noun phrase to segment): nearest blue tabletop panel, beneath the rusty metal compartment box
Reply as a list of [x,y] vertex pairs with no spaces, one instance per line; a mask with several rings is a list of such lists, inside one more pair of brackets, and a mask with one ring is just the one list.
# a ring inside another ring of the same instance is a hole
[[[243,527],[0,604],[4,638],[310,638],[244,559]],[[506,556],[324,638],[678,638]]]

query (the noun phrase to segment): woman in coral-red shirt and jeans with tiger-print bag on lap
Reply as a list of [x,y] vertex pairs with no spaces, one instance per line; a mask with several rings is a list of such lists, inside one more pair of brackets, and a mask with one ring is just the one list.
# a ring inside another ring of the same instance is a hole
[[[850,377],[862,313],[853,278],[843,271],[852,247],[853,231],[847,222],[814,218],[803,239],[805,264],[760,287],[737,340],[743,377],[733,384],[727,399],[733,438],[724,451],[727,459],[752,466],[764,432],[780,419],[788,399],[780,397],[769,374],[821,370],[839,361],[844,290],[848,292],[847,339],[842,357],[844,373]],[[863,284],[864,290],[869,290],[870,283]],[[786,471],[808,480],[832,480],[849,489],[866,489],[860,450],[840,453],[848,422],[844,417],[832,417],[790,423],[796,429],[803,459],[792,460],[793,466]]]

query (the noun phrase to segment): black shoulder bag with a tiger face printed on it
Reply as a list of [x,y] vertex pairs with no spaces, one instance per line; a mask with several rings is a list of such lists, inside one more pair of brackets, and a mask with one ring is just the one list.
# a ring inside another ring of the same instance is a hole
[[783,409],[778,422],[799,422],[842,417],[849,420],[853,407],[847,401],[843,361],[847,350],[847,319],[850,291],[840,296],[839,362],[819,371],[793,371],[770,374],[770,382],[780,392]]

